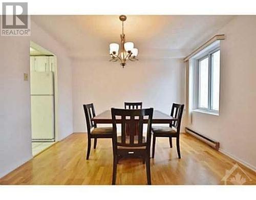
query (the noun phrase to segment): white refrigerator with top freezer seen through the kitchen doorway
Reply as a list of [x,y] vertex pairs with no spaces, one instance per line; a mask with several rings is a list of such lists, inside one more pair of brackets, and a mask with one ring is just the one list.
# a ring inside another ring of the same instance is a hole
[[32,141],[54,141],[54,74],[30,73]]

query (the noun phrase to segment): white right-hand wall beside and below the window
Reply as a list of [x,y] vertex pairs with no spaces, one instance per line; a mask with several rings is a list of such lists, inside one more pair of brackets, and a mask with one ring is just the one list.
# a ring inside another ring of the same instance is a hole
[[218,33],[226,35],[221,41],[220,115],[193,113],[188,126],[256,170],[256,16],[238,16]]

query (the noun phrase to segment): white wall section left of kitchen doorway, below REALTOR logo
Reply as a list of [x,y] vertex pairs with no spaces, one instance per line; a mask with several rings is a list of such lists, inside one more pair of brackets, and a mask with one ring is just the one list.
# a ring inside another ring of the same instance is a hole
[[[0,177],[32,157],[30,127],[29,38],[0,36]],[[3,123],[3,124],[2,124]]]

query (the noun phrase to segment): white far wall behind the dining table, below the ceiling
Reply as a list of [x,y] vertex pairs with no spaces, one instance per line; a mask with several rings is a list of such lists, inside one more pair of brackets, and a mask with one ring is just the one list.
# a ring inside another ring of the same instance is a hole
[[109,58],[73,62],[74,132],[86,131],[83,104],[94,103],[96,114],[124,101],[142,101],[169,114],[173,102],[184,103],[185,69],[181,59],[127,62],[124,69]]

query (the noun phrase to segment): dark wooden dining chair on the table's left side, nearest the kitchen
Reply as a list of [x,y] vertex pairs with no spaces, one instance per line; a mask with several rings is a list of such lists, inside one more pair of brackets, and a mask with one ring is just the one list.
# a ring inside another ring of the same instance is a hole
[[[94,138],[94,146],[96,148],[97,139],[98,138],[112,138],[113,136],[113,128],[112,127],[97,127],[92,121],[92,118],[95,117],[95,110],[93,103],[84,104],[84,115],[86,116],[86,125],[87,125],[87,138],[88,138],[88,148],[87,148],[87,156],[86,160],[90,157],[91,151],[91,139]],[[91,130],[93,128],[93,130]]]

